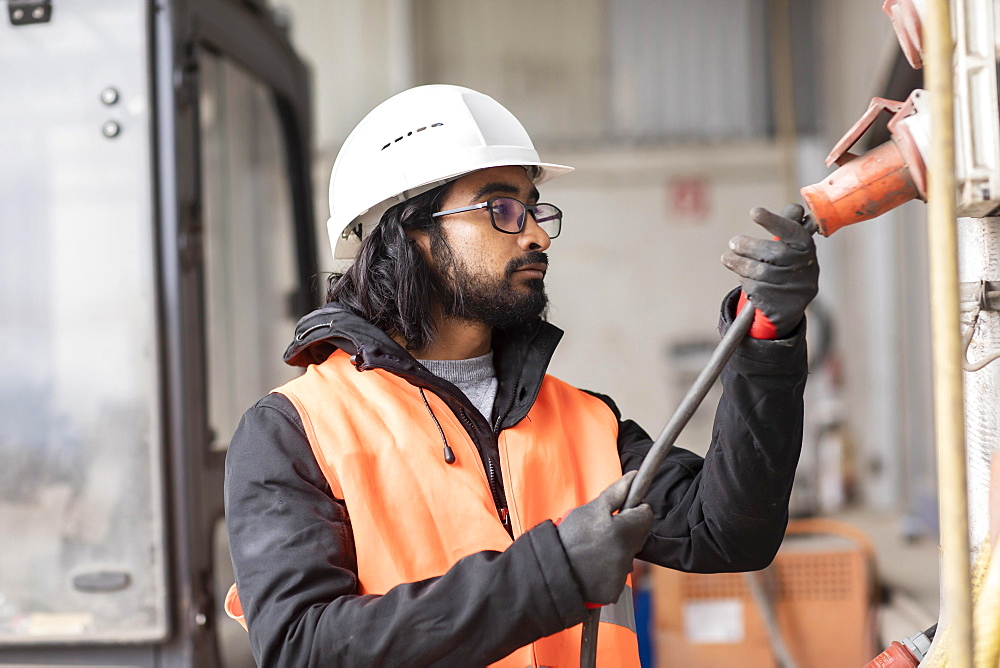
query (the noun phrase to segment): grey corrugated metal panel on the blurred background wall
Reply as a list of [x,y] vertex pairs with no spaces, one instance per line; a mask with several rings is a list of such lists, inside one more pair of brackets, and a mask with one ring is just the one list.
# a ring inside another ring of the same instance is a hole
[[766,0],[610,0],[609,7],[617,138],[768,134]]

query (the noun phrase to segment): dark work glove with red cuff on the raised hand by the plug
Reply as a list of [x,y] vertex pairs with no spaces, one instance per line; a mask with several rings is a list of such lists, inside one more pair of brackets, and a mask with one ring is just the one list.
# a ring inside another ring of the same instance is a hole
[[778,239],[741,234],[722,255],[722,264],[740,277],[743,292],[774,324],[779,339],[798,326],[819,289],[816,244],[800,222],[804,215],[798,204],[789,204],[780,216],[757,207],[750,217]]

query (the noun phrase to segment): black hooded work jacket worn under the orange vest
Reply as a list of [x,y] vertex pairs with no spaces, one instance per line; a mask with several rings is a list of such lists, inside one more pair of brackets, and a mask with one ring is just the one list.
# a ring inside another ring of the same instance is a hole
[[[737,296],[723,302],[722,330]],[[722,373],[706,457],[673,448],[646,497],[656,519],[640,559],[709,573],[757,570],[774,558],[802,442],[804,330],[803,322],[786,339],[746,339],[737,349]],[[335,304],[299,322],[285,360],[306,366],[341,348],[359,368],[397,373],[436,393],[456,415],[472,417],[469,435],[500,509],[496,433],[528,413],[561,336],[542,321],[494,336],[498,389],[489,422],[454,385]],[[608,397],[596,396],[619,419],[622,469],[638,469],[652,440],[622,420]],[[358,595],[349,509],[331,493],[295,408],[281,394],[243,416],[226,458],[225,496],[236,581],[262,666],[469,665],[473,656],[488,663],[584,619],[579,585],[551,522],[503,552],[470,555],[440,577],[383,596]]]

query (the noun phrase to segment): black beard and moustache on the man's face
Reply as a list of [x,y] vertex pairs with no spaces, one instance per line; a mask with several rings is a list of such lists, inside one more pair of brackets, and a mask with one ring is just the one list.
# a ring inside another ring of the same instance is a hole
[[512,282],[514,272],[528,264],[548,264],[541,251],[529,251],[504,267],[494,277],[473,271],[456,257],[443,235],[431,235],[431,259],[437,273],[437,292],[444,314],[460,320],[482,322],[491,328],[506,329],[544,316],[549,298],[540,278]]

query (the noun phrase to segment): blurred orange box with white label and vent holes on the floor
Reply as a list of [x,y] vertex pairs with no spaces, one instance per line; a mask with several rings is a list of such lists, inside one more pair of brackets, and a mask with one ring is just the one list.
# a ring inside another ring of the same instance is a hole
[[747,577],[762,578],[781,638],[810,668],[863,666],[875,646],[875,561],[867,537],[834,520],[789,522],[760,574],[653,571],[657,665],[777,665]]

